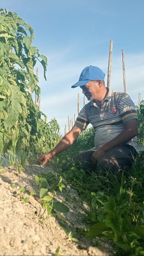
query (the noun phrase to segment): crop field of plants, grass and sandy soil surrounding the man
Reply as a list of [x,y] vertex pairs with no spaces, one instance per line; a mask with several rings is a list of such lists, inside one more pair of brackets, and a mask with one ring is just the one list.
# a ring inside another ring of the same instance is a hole
[[[127,172],[64,172],[94,146],[91,127],[45,167],[35,160],[61,135],[32,99],[41,94],[34,67],[46,79],[47,66],[33,39],[30,24],[0,10],[0,255],[144,255],[144,151]],[[143,100],[136,109],[143,146]]]

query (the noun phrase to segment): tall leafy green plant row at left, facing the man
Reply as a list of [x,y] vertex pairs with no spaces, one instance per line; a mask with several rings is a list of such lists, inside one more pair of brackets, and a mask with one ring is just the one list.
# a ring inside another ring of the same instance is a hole
[[30,24],[15,12],[0,9],[0,152],[13,144],[45,151],[58,139],[57,121],[47,124],[29,93],[31,88],[39,98],[41,88],[34,67],[40,61],[46,79],[47,66],[46,56],[32,46],[33,39]]

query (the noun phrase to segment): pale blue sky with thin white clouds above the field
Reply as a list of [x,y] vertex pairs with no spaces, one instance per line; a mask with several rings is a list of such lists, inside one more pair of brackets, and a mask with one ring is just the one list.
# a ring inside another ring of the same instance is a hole
[[[56,118],[64,133],[68,115],[77,116],[82,90],[71,88],[89,65],[100,67],[107,84],[110,40],[113,40],[110,88],[123,91],[122,49],[125,54],[126,91],[138,105],[144,98],[143,0],[1,0],[35,31],[33,46],[48,59],[47,82],[38,64],[41,111]],[[85,100],[87,102],[87,100]]]

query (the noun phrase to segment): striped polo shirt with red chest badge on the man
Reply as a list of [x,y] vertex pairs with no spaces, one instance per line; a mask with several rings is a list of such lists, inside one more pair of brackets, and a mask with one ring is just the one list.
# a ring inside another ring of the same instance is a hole
[[[89,123],[92,124],[95,130],[95,147],[92,150],[97,150],[119,135],[125,130],[124,124],[127,121],[137,119],[136,108],[131,97],[127,93],[106,88],[108,94],[102,100],[101,108],[91,100],[79,112],[74,124],[84,130]],[[138,151],[137,136],[128,141],[127,144]]]

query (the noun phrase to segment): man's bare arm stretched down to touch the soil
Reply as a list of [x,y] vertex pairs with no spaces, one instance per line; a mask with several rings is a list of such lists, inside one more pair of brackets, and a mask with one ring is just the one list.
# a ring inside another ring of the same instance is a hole
[[73,128],[66,135],[64,135],[64,137],[59,141],[59,143],[54,147],[52,151],[41,155],[37,158],[37,160],[40,162],[43,161],[43,165],[45,165],[47,162],[50,162],[54,156],[70,147],[70,145],[73,144],[73,142],[78,138],[82,131],[82,128],[74,125]]

